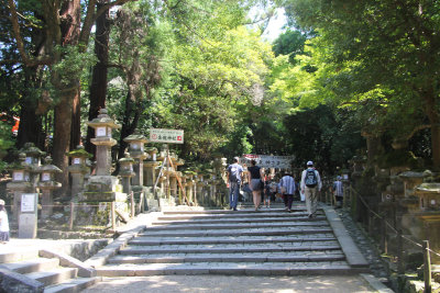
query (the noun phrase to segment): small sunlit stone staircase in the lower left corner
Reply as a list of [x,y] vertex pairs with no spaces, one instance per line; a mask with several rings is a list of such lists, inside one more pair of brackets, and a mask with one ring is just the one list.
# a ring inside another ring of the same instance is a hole
[[80,292],[101,279],[80,261],[43,249],[0,250],[0,291]]

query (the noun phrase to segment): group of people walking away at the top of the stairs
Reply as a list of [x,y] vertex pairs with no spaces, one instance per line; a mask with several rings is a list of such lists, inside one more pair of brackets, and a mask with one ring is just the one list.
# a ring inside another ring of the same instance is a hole
[[[231,210],[237,211],[238,201],[242,196],[242,193],[244,193],[252,194],[255,211],[270,209],[271,203],[283,201],[285,210],[292,212],[293,203],[295,201],[302,201],[306,202],[308,216],[316,216],[318,195],[322,189],[322,181],[312,161],[307,161],[305,170],[300,173],[300,178],[295,178],[289,171],[277,173],[270,172],[270,170],[265,171],[256,165],[255,160],[251,160],[245,172],[245,168],[239,161],[240,159],[235,157],[234,162],[227,169]],[[334,181],[332,191],[337,202],[340,204],[343,195],[343,184],[340,177]],[[243,200],[249,200],[246,196],[243,198]]]

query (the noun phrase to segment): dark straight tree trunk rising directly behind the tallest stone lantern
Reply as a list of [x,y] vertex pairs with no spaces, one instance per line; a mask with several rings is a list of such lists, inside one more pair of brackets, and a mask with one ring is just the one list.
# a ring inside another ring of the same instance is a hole
[[[108,2],[106,0],[105,2]],[[98,3],[98,10],[105,3]],[[95,54],[98,57],[98,63],[94,67],[94,74],[90,86],[90,106],[89,106],[89,121],[96,119],[99,113],[99,109],[106,108],[106,95],[107,95],[107,63],[109,59],[109,34],[110,34],[110,22],[109,11],[99,15],[96,21],[96,41],[95,41]],[[90,143],[90,138],[95,137],[95,129],[87,127],[86,138],[86,150],[90,154],[96,153],[96,147]]]

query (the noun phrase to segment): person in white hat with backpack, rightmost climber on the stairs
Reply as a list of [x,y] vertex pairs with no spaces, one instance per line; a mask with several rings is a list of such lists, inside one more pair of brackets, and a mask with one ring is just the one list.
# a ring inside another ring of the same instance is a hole
[[314,162],[307,162],[307,169],[301,174],[301,192],[306,195],[306,207],[309,217],[315,217],[318,209],[318,192],[322,188],[319,172],[315,170]]

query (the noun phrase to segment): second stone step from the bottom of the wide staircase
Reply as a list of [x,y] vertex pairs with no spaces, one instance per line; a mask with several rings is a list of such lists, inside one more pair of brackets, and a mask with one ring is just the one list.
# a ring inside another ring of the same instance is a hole
[[258,253],[167,253],[114,256],[108,263],[179,263],[179,262],[320,262],[345,260],[341,250],[258,252]]

